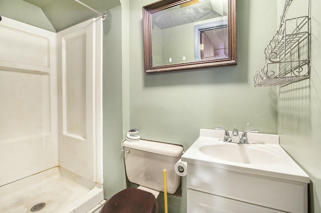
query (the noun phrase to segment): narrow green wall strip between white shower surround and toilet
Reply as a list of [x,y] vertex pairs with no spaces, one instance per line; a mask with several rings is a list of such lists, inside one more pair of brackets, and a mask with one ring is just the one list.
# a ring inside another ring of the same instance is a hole
[[129,115],[126,115],[128,104],[123,102],[123,98],[128,99],[128,92],[123,91],[126,73],[122,74],[122,67],[125,71],[124,62],[128,59],[122,58],[121,6],[108,10],[103,23],[103,171],[104,196],[108,199],[126,187],[121,141]]

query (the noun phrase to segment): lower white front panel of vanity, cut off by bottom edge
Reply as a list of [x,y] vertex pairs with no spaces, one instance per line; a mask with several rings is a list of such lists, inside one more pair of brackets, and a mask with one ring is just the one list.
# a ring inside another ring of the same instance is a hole
[[187,212],[188,213],[275,213],[285,212],[260,205],[242,202],[214,194],[187,189]]

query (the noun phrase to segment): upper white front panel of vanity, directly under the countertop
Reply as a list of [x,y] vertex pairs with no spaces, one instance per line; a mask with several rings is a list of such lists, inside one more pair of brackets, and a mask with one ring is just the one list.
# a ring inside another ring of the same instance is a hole
[[285,212],[307,212],[307,184],[302,182],[189,163],[187,187]]

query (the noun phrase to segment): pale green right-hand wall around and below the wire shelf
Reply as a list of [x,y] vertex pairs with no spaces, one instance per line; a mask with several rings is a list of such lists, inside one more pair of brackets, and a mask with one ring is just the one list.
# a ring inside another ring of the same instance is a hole
[[[306,0],[292,1],[287,18],[306,14]],[[278,0],[282,10],[284,0]],[[310,177],[309,212],[321,212],[321,2],[310,0],[310,78],[279,88],[281,146]]]

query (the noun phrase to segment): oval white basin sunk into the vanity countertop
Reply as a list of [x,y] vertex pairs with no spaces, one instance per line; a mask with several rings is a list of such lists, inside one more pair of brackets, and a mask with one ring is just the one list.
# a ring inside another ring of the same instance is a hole
[[220,140],[204,141],[198,145],[200,152],[218,160],[236,163],[275,163],[283,157],[260,144],[238,144]]

